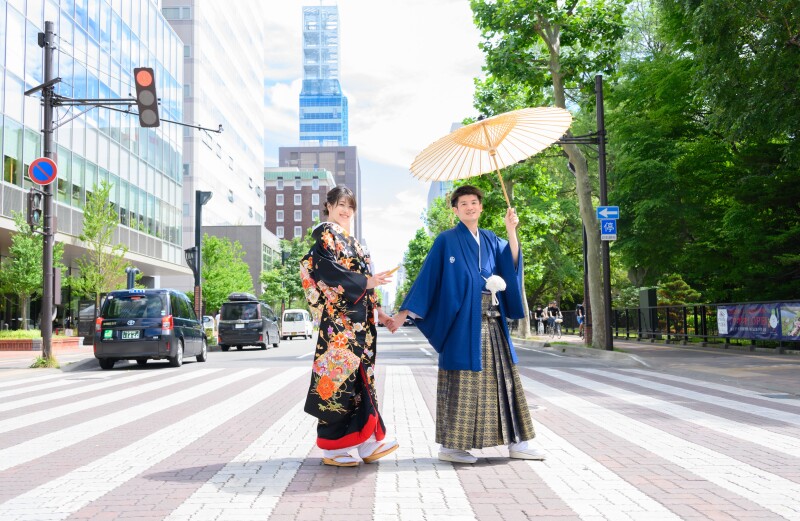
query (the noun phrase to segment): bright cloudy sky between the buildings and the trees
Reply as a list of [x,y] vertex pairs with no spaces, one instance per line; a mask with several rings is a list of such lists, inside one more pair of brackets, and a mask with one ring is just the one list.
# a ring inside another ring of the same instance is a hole
[[[265,166],[278,166],[278,147],[298,144],[302,6],[319,4],[269,2]],[[412,161],[454,122],[477,115],[472,94],[483,64],[480,35],[468,0],[323,2],[334,4],[349,145],[358,147],[361,163],[358,210],[381,271],[402,262],[408,242],[423,227],[429,183],[411,176]],[[394,294],[394,284],[384,288]]]

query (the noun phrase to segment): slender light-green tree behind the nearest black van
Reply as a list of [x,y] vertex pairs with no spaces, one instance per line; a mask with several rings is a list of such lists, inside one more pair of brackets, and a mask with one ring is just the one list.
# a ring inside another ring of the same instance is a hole
[[129,265],[125,259],[128,247],[113,243],[119,215],[109,201],[110,191],[111,185],[103,181],[86,198],[83,230],[78,236],[86,252],[75,260],[79,275],[69,281],[73,291],[95,299],[96,310],[102,293],[125,285],[125,268]]

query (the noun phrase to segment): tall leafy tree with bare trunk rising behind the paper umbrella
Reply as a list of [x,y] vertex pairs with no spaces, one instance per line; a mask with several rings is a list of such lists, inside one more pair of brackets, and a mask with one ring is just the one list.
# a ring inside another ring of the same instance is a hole
[[[528,99],[551,99],[567,106],[568,92],[580,98],[593,90],[593,75],[610,73],[617,63],[624,35],[623,13],[628,0],[580,2],[472,0],[475,23],[483,36],[485,70],[515,92],[540,92]],[[590,100],[588,100],[590,101]],[[591,106],[590,104],[587,104]],[[580,216],[587,230],[587,264],[591,295],[592,344],[604,347],[606,327],[601,298],[600,233],[592,200],[586,156],[577,145],[562,145],[576,173]],[[609,303],[610,305],[610,303]]]

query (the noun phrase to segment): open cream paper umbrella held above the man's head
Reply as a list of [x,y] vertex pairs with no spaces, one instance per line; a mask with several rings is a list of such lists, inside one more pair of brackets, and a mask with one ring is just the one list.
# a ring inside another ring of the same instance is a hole
[[454,130],[419,153],[411,174],[422,181],[452,181],[496,172],[541,152],[569,128],[572,116],[557,107],[514,110]]

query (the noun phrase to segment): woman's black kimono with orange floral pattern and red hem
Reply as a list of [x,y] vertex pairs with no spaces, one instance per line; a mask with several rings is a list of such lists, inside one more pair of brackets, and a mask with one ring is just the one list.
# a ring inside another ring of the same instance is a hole
[[375,293],[369,256],[341,226],[324,222],[300,275],[319,337],[305,412],[319,420],[317,445],[335,450],[385,436],[375,393]]

